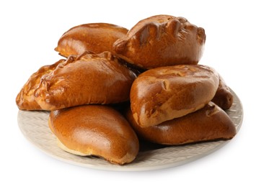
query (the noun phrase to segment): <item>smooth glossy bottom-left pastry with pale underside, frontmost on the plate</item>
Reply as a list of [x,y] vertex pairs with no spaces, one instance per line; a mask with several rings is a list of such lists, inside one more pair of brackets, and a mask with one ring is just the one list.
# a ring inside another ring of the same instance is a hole
[[76,155],[97,155],[110,163],[131,163],[138,154],[138,138],[126,119],[109,106],[85,105],[50,112],[49,126]]

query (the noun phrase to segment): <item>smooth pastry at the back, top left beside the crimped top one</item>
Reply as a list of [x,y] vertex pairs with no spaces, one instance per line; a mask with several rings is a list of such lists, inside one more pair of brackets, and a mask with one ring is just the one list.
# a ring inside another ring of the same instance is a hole
[[128,29],[115,24],[81,24],[65,32],[58,40],[55,50],[65,57],[81,55],[84,51],[113,52],[113,43],[120,37],[124,37],[127,32]]

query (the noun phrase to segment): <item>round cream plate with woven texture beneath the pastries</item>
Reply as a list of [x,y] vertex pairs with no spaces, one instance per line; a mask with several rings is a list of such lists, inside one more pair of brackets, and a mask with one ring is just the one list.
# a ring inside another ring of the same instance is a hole
[[[242,103],[236,93],[234,93],[234,91],[232,91],[232,93],[234,94],[234,103],[231,106],[231,109],[227,110],[226,113],[231,117],[238,132],[243,119]],[[19,110],[19,128],[27,140],[53,158],[74,165],[100,170],[138,171],[171,168],[209,155],[211,152],[219,150],[231,141],[221,140],[169,147],[143,145],[142,147],[144,147],[144,149],[138,152],[138,156],[132,163],[126,165],[113,165],[102,158],[94,156],[81,157],[61,150],[56,144],[56,137],[48,128],[48,116],[48,111]]]

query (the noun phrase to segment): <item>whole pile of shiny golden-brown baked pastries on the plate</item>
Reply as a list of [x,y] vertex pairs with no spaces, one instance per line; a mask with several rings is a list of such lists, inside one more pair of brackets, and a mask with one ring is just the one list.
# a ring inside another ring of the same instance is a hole
[[229,140],[224,79],[199,65],[206,34],[184,17],[156,15],[130,30],[114,24],[72,27],[63,56],[30,76],[17,95],[22,110],[50,111],[58,146],[75,155],[131,163],[141,141],[159,145]]

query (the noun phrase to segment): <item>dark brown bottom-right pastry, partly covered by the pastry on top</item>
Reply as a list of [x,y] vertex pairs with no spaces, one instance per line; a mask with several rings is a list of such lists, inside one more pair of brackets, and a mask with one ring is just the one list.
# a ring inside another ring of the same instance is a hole
[[229,116],[212,102],[184,117],[152,127],[140,127],[133,119],[131,110],[128,110],[126,117],[139,137],[163,145],[229,140],[236,134]]

